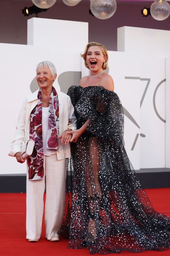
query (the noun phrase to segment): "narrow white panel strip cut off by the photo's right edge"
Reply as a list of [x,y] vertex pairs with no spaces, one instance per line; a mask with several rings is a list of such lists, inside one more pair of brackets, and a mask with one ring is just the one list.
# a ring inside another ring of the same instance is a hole
[[165,164],[170,168],[170,58],[166,59],[166,128],[165,128]]

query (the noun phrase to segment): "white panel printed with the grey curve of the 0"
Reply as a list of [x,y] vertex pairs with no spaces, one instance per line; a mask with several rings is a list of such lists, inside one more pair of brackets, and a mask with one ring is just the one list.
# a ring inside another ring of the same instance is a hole
[[[140,141],[140,168],[164,168],[165,122],[157,114],[165,120],[165,82],[157,91],[156,87],[165,79],[165,59],[141,59],[141,78],[150,82],[140,109],[140,132],[146,135]],[[141,81],[141,95],[146,84],[147,81]]]

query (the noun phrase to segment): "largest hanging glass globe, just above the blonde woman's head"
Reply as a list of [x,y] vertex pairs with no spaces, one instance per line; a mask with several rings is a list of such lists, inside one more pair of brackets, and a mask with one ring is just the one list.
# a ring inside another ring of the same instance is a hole
[[98,19],[108,19],[116,11],[116,0],[91,0],[90,9]]

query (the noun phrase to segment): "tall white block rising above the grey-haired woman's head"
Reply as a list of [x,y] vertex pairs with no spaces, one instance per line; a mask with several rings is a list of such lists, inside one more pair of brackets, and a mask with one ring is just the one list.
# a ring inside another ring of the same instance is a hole
[[69,20],[31,18],[28,20],[27,44],[53,46],[81,52],[88,43],[88,23]]

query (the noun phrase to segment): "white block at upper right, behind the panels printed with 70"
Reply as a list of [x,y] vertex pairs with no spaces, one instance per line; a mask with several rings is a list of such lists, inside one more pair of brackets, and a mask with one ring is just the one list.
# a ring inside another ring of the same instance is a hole
[[170,56],[170,31],[151,28],[120,27],[117,29],[117,51],[140,52],[143,57]]

